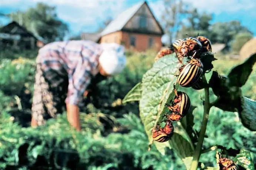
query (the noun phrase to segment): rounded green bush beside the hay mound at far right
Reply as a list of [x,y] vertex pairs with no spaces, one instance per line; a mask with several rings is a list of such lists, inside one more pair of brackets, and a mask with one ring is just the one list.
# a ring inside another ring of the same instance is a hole
[[235,52],[236,54],[239,54],[242,46],[252,38],[253,38],[253,35],[248,32],[242,32],[237,34],[234,37],[233,42],[231,44],[232,51]]

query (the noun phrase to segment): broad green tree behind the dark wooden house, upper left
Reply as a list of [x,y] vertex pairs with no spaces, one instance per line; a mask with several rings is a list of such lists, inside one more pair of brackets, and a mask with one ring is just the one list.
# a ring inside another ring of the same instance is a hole
[[35,8],[24,12],[11,13],[9,17],[47,42],[63,40],[69,31],[67,24],[57,17],[56,7],[44,3],[37,3]]

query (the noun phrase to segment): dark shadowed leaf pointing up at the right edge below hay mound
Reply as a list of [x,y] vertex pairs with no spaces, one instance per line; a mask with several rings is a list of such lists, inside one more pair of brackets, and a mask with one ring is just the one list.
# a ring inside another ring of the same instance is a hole
[[252,72],[252,67],[255,62],[256,53],[249,56],[249,58],[242,64],[235,66],[232,70],[230,70],[227,76],[229,78],[229,86],[242,87],[245,85]]

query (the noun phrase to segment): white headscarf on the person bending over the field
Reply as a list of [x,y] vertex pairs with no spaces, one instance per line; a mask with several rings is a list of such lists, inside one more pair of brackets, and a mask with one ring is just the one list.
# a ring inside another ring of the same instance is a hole
[[115,75],[126,66],[125,48],[116,43],[102,43],[103,52],[99,57],[99,63],[103,70],[110,75]]

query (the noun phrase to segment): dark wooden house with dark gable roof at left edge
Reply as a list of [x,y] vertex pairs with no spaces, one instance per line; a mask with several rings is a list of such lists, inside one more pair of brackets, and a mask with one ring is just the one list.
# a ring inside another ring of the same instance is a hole
[[42,38],[36,37],[15,21],[0,28],[0,45],[2,49],[8,47],[14,49],[35,49],[42,47],[45,43]]

